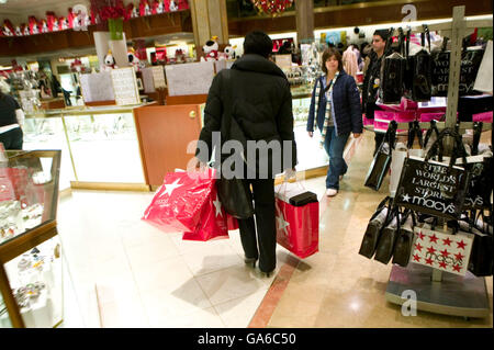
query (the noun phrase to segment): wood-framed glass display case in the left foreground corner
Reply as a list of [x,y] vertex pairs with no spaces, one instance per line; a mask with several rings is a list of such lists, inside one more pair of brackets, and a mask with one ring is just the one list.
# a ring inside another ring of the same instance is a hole
[[7,151],[0,162],[0,327],[63,320],[56,228],[59,150]]

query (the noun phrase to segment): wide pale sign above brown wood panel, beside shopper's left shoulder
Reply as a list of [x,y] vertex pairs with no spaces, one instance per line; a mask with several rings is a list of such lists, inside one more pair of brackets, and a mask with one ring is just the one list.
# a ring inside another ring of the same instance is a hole
[[214,61],[165,66],[168,94],[206,94],[214,78]]

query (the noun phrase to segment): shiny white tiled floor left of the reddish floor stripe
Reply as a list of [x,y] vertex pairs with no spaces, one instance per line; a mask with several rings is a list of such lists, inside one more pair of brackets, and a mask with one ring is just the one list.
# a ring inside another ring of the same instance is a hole
[[[306,187],[324,193],[318,179]],[[183,241],[141,221],[151,197],[74,191],[60,200],[58,229],[82,324],[247,327],[274,276],[245,267],[238,230],[229,239]],[[289,257],[279,248],[278,267]]]

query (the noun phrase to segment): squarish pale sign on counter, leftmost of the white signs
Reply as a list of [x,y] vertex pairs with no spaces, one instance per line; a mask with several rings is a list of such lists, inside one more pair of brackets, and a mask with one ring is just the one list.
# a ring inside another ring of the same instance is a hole
[[80,75],[80,90],[85,102],[114,101],[112,76],[108,71]]

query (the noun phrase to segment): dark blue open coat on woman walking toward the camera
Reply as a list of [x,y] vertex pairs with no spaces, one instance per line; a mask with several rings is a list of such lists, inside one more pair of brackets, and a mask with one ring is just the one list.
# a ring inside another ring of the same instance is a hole
[[[308,109],[307,132],[314,131],[314,118],[319,131],[324,127],[326,117],[327,98],[324,92],[324,76],[321,76],[314,84],[312,91],[311,108]],[[316,97],[316,90],[319,90]],[[318,101],[318,102],[317,102]],[[348,133],[362,133],[362,111],[360,109],[360,93],[353,77],[346,74],[345,70],[339,72],[333,87],[333,106],[335,111],[334,121],[338,135]]]

